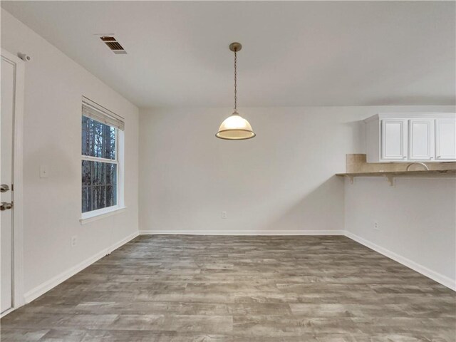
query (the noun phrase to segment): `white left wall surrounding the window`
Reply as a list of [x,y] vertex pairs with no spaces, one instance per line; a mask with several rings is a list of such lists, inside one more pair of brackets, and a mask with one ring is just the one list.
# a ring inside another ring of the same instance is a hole
[[[1,48],[32,58],[25,64],[24,291],[33,298],[49,281],[138,232],[138,108],[3,9]],[[86,225],[79,222],[82,95],[125,118],[128,206]],[[41,164],[49,167],[47,179],[38,177]]]

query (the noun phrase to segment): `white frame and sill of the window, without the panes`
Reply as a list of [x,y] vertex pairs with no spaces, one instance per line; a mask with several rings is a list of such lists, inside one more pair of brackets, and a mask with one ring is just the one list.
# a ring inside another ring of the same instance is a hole
[[[88,99],[83,98],[83,103],[88,101]],[[93,103],[92,101],[90,101]],[[100,108],[103,108],[99,106]],[[105,109],[105,108],[103,108]],[[101,110],[100,110],[101,111]],[[107,110],[108,111],[108,110]],[[103,113],[105,111],[103,110]],[[105,115],[109,115],[108,113],[105,113]],[[89,118],[87,115],[82,115],[86,116],[86,118]],[[81,116],[81,118],[82,118]],[[119,117],[120,118],[120,117]],[[99,123],[103,123],[100,120],[96,120],[94,118],[90,118],[92,120],[98,121]],[[107,123],[104,123],[105,125]],[[111,125],[111,127],[114,127]],[[82,141],[82,128],[81,128],[81,141]],[[88,160],[92,162],[107,162],[110,164],[115,164],[117,165],[117,204],[110,206],[110,207],[105,207],[102,209],[96,209],[92,210],[90,212],[82,212],[82,207],[81,207],[81,219],[79,221],[81,224],[86,224],[89,222],[93,222],[97,219],[102,219],[103,217],[108,217],[113,214],[117,214],[118,212],[123,212],[127,207],[125,207],[125,202],[124,202],[124,141],[125,141],[125,133],[123,130],[120,130],[119,128],[115,128],[115,159],[107,159],[107,158],[101,158],[101,157],[92,157],[89,155],[83,155],[81,152],[81,161],[82,160]],[[82,196],[82,179],[81,179],[81,196]],[[82,202],[82,200],[81,200]]]

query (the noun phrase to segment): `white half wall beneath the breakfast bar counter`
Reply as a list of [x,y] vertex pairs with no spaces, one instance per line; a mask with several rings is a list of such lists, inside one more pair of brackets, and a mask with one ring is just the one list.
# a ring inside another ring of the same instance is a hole
[[454,179],[397,178],[390,187],[384,178],[356,178],[346,182],[345,207],[349,237],[454,288]]

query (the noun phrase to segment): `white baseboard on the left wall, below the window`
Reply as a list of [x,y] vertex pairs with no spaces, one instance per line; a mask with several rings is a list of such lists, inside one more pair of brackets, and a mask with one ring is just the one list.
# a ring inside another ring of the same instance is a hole
[[110,252],[113,252],[115,249],[118,249],[120,246],[123,246],[123,244],[126,244],[130,240],[135,239],[135,237],[138,237],[138,235],[138,232],[134,232],[133,234],[128,235],[128,237],[121,239],[119,242],[115,242],[115,244],[111,245],[110,247],[103,249],[102,251],[98,252],[92,257],[80,262],[76,266],[71,267],[71,269],[62,272],[61,274],[54,276],[48,281],[45,281],[43,284],[36,286],[34,289],[27,291],[26,294],[24,294],[25,304],[30,303],[34,299],[37,299],[39,296],[53,289],[58,284],[61,284],[63,281],[66,281],[66,279],[70,278],[71,276],[74,276],[78,272],[90,266],[95,261],[98,261],[99,259],[105,257],[106,255],[110,254]]

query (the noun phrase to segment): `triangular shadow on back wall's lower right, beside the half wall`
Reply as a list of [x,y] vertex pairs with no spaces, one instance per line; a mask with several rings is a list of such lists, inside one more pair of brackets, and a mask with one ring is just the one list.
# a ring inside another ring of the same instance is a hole
[[[305,180],[303,180],[305,182]],[[344,224],[344,181],[332,176],[306,196],[270,217],[261,230],[341,230]]]

